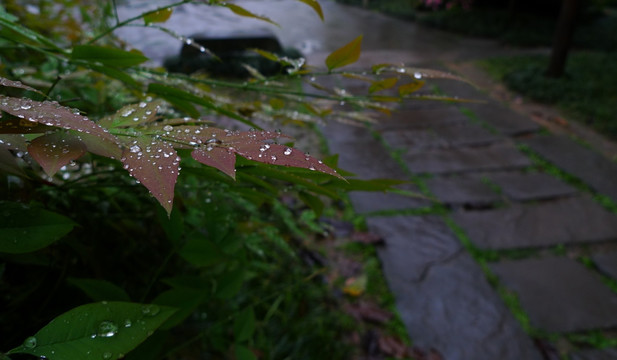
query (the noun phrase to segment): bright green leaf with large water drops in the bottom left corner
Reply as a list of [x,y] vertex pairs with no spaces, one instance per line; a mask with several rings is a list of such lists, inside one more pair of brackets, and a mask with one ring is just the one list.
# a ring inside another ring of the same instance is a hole
[[56,317],[9,354],[49,360],[115,360],[134,349],[176,310],[159,305],[99,302]]

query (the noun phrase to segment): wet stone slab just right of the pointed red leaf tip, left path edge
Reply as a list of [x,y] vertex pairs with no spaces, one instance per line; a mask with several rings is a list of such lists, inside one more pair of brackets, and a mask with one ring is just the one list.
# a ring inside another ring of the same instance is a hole
[[331,122],[322,129],[331,153],[339,155],[339,167],[360,179],[408,176],[366,127]]

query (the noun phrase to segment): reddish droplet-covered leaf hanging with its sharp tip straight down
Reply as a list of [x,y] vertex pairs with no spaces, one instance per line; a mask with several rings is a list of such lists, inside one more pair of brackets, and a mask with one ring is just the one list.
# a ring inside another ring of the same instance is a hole
[[150,190],[168,214],[171,213],[180,170],[180,157],[173,146],[152,137],[135,138],[127,144],[120,160],[131,176]]

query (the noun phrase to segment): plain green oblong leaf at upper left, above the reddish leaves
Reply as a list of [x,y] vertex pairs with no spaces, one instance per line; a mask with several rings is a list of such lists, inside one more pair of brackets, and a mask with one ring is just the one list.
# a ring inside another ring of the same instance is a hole
[[107,66],[128,67],[148,61],[141,52],[125,51],[95,45],[77,45],[71,53],[72,60],[83,60],[90,63],[100,63]]

